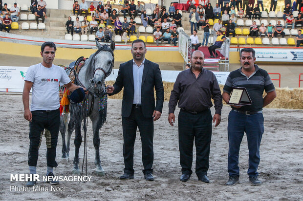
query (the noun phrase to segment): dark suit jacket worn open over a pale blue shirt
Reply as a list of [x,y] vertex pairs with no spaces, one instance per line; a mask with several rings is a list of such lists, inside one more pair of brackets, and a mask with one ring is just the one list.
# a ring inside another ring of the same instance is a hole
[[[115,90],[109,95],[114,95],[123,90],[122,117],[129,117],[133,102],[134,84],[132,73],[132,59],[120,64]],[[153,88],[156,90],[156,105],[154,100]],[[141,107],[145,117],[152,117],[153,110],[162,113],[164,102],[164,89],[159,65],[145,59],[144,70],[141,84]]]

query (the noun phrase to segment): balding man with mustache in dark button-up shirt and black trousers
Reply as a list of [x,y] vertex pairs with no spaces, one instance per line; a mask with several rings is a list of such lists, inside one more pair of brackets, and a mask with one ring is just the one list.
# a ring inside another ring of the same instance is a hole
[[[193,146],[195,140],[196,165],[198,180],[209,183],[209,151],[212,137],[212,120],[216,126],[221,121],[222,96],[216,76],[203,68],[204,54],[193,52],[191,68],[178,74],[173,85],[169,102],[168,121],[173,126],[174,110],[178,103],[181,108],[178,116],[179,150],[182,175],[180,180],[186,182],[192,174]],[[212,118],[210,108],[215,103],[215,115]]]

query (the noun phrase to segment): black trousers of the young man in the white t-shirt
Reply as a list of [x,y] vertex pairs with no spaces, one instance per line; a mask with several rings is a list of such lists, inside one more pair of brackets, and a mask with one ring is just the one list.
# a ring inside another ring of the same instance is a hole
[[32,111],[33,119],[29,123],[29,151],[28,165],[37,166],[39,147],[41,145],[44,128],[49,132],[45,133],[46,138],[46,161],[48,167],[57,167],[56,147],[60,127],[60,110],[35,110]]

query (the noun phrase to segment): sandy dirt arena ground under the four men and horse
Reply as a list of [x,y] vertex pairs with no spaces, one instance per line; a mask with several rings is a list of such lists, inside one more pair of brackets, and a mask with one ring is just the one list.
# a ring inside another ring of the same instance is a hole
[[[230,108],[223,107],[222,121],[213,127],[210,151],[210,183],[197,180],[195,173],[186,182],[180,182],[181,168],[178,150],[178,125],[168,124],[168,102],[164,103],[163,114],[154,124],[154,182],[143,179],[141,160],[141,140],[137,133],[134,150],[135,178],[122,181],[122,124],[121,100],[109,99],[108,119],[100,132],[101,163],[105,176],[94,174],[94,147],[92,144],[91,123],[88,125],[87,183],[61,182],[64,191],[55,192],[15,192],[11,186],[22,187],[25,182],[10,182],[10,174],[28,174],[28,122],[23,119],[21,95],[0,94],[0,200],[23,201],[299,201],[303,200],[303,112],[302,110],[265,109],[265,132],[260,146],[261,186],[252,186],[247,176],[248,150],[246,137],[240,148],[240,183],[226,186],[227,173],[227,117]],[[178,114],[176,110],[175,114]],[[212,108],[212,113],[214,110]],[[54,170],[57,176],[70,176],[73,167],[74,134],[71,140],[70,162],[61,163],[61,136],[58,138],[57,162]],[[195,153],[195,151],[194,151]],[[83,143],[80,148],[80,165],[83,159]],[[195,154],[193,170],[195,172]],[[45,138],[40,147],[37,173],[46,172]],[[38,183],[50,187],[48,183]]]

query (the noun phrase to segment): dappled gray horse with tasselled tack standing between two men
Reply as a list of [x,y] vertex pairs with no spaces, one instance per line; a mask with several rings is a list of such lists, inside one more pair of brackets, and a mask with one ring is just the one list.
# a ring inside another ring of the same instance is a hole
[[[80,174],[79,170],[79,148],[82,142],[81,123],[84,121],[84,129],[86,128],[86,119],[90,118],[93,128],[93,144],[95,147],[95,172],[97,175],[103,176],[104,170],[100,161],[100,137],[99,129],[101,129],[106,120],[106,100],[105,94],[105,78],[111,73],[114,62],[113,51],[115,43],[112,41],[110,46],[100,45],[96,41],[98,50],[90,55],[84,66],[81,68],[78,77],[75,79],[75,84],[87,88],[89,91],[84,102],[79,104],[70,104],[70,120],[67,128],[67,141],[65,144],[65,125],[68,119],[68,114],[61,117],[60,132],[62,135],[62,159],[68,161],[70,138],[73,130],[75,130],[75,157],[74,168],[72,174]],[[102,99],[103,97],[103,99]],[[103,103],[100,103],[103,101]],[[100,108],[101,107],[101,108]]]

